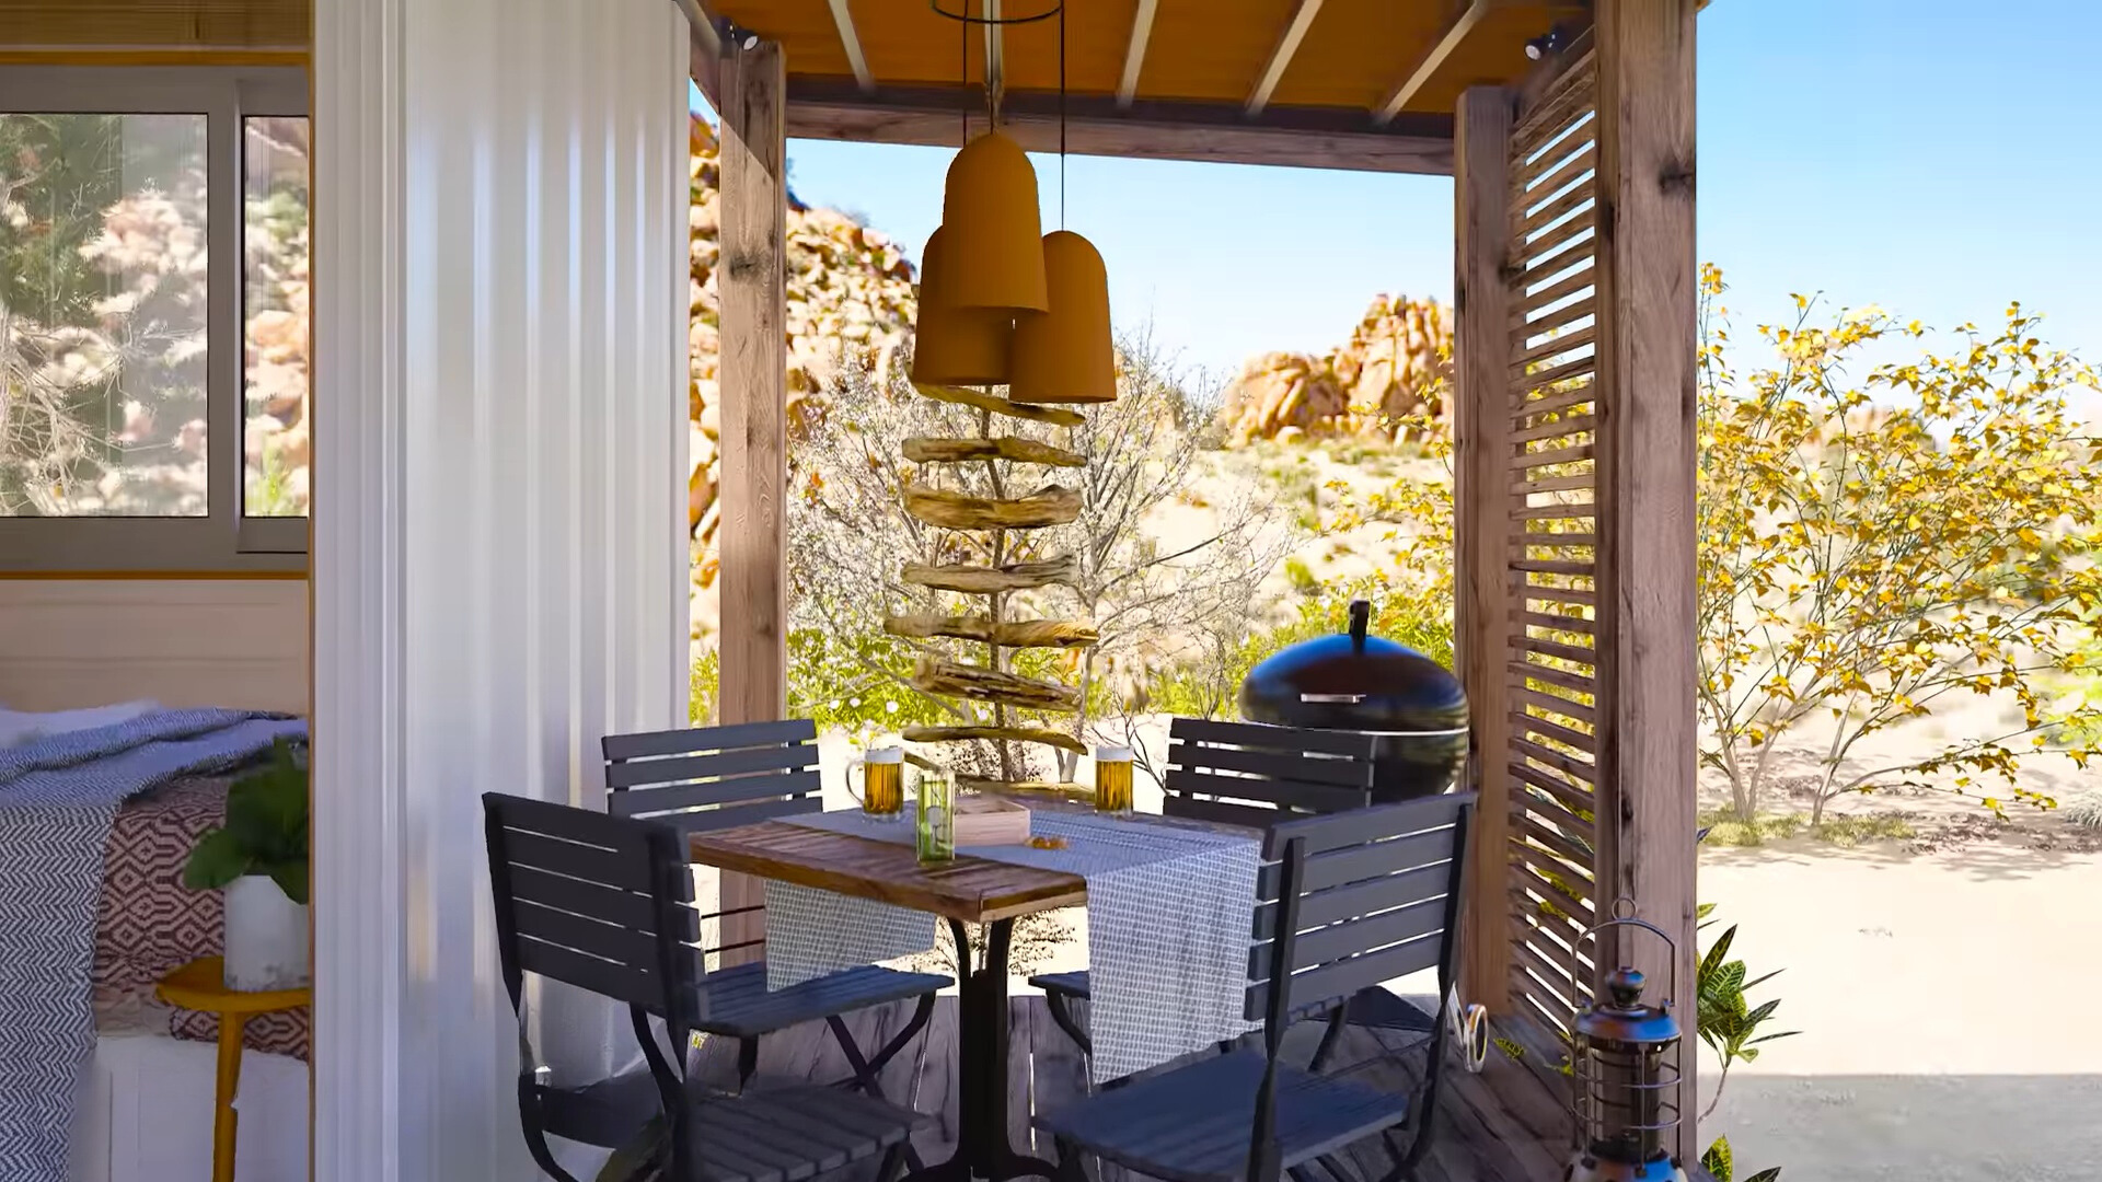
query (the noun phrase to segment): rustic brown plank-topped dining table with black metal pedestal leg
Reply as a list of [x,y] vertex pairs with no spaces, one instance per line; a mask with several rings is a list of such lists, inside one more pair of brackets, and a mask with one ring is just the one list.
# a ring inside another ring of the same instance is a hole
[[[959,854],[950,862],[921,864],[906,843],[782,820],[694,833],[689,858],[700,867],[868,898],[946,919],[956,942],[956,1016],[963,1035],[956,1062],[956,1153],[912,1174],[912,1180],[1005,1182],[1055,1174],[1049,1161],[1019,1153],[1007,1140],[1007,955],[1015,919],[1085,904],[1087,879],[969,854]],[[977,965],[971,963],[965,923],[986,928],[986,955]]]

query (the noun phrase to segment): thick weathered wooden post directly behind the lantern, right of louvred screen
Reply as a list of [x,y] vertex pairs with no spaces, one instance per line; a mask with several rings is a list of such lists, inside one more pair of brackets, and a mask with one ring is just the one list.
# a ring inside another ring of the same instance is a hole
[[1600,782],[1598,909],[1616,898],[1677,940],[1600,942],[1665,989],[1679,1043],[1682,1161],[1694,1129],[1694,265],[1696,0],[1598,6]]

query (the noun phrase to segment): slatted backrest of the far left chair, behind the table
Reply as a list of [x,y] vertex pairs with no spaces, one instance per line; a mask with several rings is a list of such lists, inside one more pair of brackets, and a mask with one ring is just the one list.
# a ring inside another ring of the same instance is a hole
[[607,734],[601,749],[614,816],[702,833],[824,808],[811,719]]

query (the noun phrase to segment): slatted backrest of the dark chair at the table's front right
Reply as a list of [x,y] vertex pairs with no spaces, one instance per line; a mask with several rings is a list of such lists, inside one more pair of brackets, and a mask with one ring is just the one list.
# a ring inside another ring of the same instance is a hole
[[[1251,1020],[1421,972],[1452,974],[1474,793],[1274,824],[1249,953]],[[1280,892],[1280,881],[1297,890]],[[1282,894],[1282,898],[1280,898]]]

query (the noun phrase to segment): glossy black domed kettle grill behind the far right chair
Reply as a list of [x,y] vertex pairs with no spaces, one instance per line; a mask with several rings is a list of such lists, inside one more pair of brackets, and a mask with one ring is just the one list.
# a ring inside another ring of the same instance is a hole
[[1373,801],[1429,797],[1467,761],[1467,694],[1421,652],[1364,635],[1373,606],[1349,606],[1349,633],[1274,652],[1240,684],[1240,717],[1272,726],[1377,734]]

